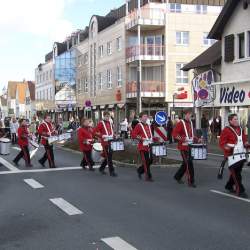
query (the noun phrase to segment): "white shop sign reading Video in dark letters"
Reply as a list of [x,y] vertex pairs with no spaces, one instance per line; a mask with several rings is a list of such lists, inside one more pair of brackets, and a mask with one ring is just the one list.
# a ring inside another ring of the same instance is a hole
[[217,85],[216,106],[250,106],[250,83]]

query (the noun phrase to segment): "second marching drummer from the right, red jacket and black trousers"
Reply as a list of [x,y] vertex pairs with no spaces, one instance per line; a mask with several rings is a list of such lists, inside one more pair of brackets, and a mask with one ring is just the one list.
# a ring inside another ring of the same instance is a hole
[[198,140],[198,138],[194,136],[190,110],[184,110],[184,119],[180,120],[176,124],[173,130],[173,137],[178,141],[177,148],[180,151],[182,157],[182,164],[176,172],[174,179],[179,184],[183,184],[184,182],[182,181],[182,177],[186,173],[189,187],[195,188],[196,185],[194,179],[194,166],[189,144],[195,141],[200,142],[200,140]]

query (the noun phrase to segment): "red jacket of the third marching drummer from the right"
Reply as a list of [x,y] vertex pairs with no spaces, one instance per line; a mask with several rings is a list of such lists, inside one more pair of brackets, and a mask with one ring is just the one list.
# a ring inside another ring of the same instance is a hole
[[[144,133],[142,127],[141,127],[141,124],[144,127],[144,130],[145,130],[147,136],[145,135],[145,133]],[[151,127],[148,124],[145,124],[145,123],[138,123],[135,126],[135,128],[133,129],[132,138],[137,139],[138,136],[141,137],[142,139],[148,138],[148,139],[154,140],[154,138],[152,137]],[[138,148],[139,151],[149,151],[150,150],[149,146],[143,146],[143,140],[139,140],[137,148]]]

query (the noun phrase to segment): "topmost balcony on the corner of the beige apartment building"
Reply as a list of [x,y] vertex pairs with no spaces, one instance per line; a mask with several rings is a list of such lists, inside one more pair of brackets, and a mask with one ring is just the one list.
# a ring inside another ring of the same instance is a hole
[[165,25],[165,10],[160,8],[141,8],[131,12],[126,17],[126,29],[136,30],[137,25],[142,25],[142,30],[150,26],[151,29],[158,29]]

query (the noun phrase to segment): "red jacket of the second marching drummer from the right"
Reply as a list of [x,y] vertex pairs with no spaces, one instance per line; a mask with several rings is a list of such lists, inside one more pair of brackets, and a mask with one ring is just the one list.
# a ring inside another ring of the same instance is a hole
[[[192,135],[191,121],[186,121],[186,120],[183,120],[183,121],[185,122],[185,125],[187,128],[188,137],[193,138],[194,142],[197,141],[197,137]],[[179,150],[184,150],[184,151],[189,150],[188,145],[183,145],[183,143],[185,143],[187,136],[186,136],[185,129],[181,121],[176,124],[173,130],[173,137],[178,141],[177,148]]]

